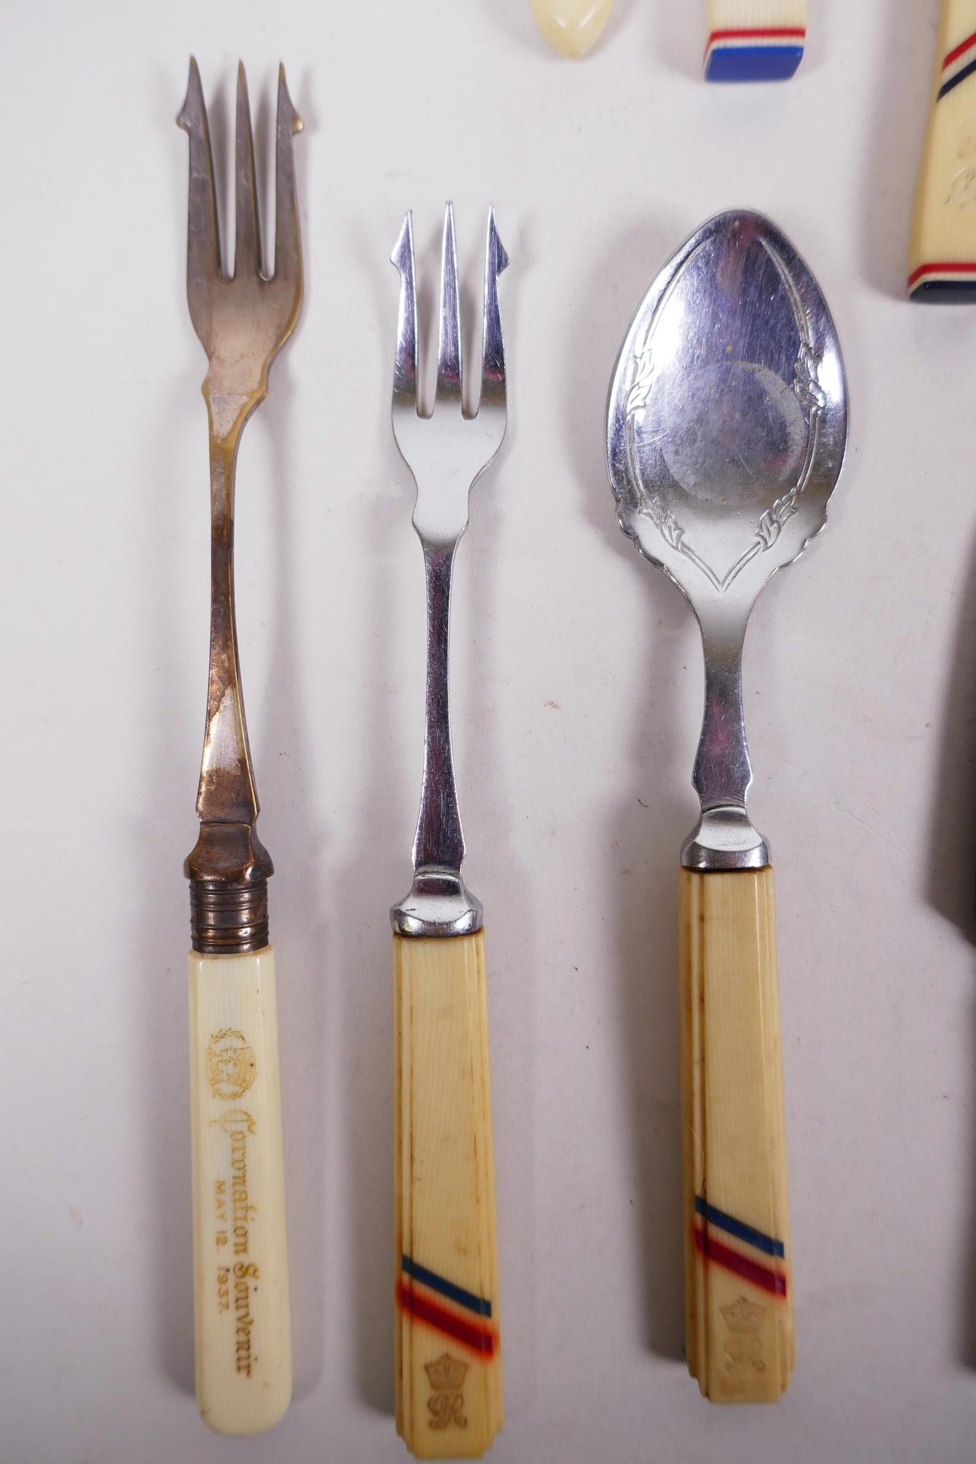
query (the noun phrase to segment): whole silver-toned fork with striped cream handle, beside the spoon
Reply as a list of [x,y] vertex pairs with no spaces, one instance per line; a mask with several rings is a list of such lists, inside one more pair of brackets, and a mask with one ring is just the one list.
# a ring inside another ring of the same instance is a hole
[[[481,397],[473,417],[462,406],[451,203],[443,223],[438,388],[430,417],[420,416],[417,400],[410,214],[392,262],[401,277],[392,422],[397,447],[417,485],[413,523],[423,545],[427,587],[424,767],[414,878],[410,893],[391,911],[397,1430],[407,1448],[424,1458],[467,1458],[489,1446],[502,1427],[503,1408],[483,911],[461,878],[464,836],[451,752],[448,632],[454,555],[468,523],[468,492],[505,435],[498,277],[508,256],[489,212]],[[457,1350],[464,1360],[454,1356]]]

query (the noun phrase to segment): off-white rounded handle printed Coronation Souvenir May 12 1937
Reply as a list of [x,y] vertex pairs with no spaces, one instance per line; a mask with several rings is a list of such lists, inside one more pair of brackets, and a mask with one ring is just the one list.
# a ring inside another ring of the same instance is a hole
[[291,1400],[275,956],[190,953],[196,1401],[260,1433]]

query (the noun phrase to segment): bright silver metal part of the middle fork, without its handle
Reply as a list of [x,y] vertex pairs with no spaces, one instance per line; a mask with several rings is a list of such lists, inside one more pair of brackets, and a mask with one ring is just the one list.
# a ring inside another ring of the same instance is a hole
[[391,255],[399,269],[399,321],[394,363],[394,436],[414,476],[414,529],[424,552],[427,583],[427,695],[420,817],[414,839],[414,881],[394,905],[399,935],[468,935],[483,912],[461,878],[464,834],[454,785],[448,698],[448,635],[454,552],[468,524],[468,492],[505,436],[505,347],[498,277],[508,265],[489,209],[484,252],[481,398],[467,417],[461,400],[461,322],[454,208],[446,206],[440,258],[440,337],[435,411],[420,414],[417,398],[417,288],[413,215],[408,212]]

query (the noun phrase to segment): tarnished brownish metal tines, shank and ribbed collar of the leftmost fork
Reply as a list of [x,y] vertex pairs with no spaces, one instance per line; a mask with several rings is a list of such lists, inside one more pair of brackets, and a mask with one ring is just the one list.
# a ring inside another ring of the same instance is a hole
[[240,955],[268,944],[268,875],[258,792],[247,744],[234,621],[234,471],[244,423],[268,395],[268,369],[301,309],[301,242],[291,139],[301,119],[278,70],[275,146],[275,269],[263,274],[255,186],[255,145],[244,67],[237,69],[234,274],[221,264],[214,158],[198,64],[177,117],[190,138],[186,294],[208,354],[203,397],[211,432],[211,662],[196,811],[200,837],[190,880],[193,949]]

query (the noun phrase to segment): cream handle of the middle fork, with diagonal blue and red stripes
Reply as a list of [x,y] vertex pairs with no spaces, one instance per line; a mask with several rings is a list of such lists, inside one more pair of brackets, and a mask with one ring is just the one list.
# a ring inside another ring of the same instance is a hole
[[394,935],[397,1432],[478,1458],[503,1423],[484,934]]

